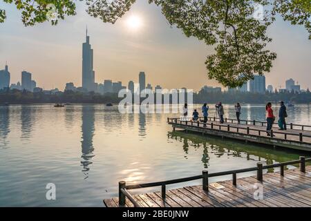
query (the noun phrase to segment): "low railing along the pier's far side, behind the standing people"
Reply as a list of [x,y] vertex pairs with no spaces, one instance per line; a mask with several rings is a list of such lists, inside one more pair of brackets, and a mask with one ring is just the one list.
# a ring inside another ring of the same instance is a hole
[[[204,117],[199,117],[199,119],[204,119]],[[209,121],[213,121],[213,122],[216,122],[219,121],[219,117],[207,117],[207,119],[209,119]],[[231,123],[237,123],[238,122],[238,119],[232,119],[232,118],[224,118],[225,122],[231,122]],[[249,119],[240,119],[240,123],[244,123],[246,125],[254,125],[254,126],[266,126],[267,125],[267,122],[265,121],[260,121],[260,120],[256,120],[256,119],[253,119],[253,120],[249,120]],[[278,123],[274,122],[274,125],[277,125]],[[286,126],[288,126],[288,128],[290,129],[294,129],[294,128],[301,128],[301,131],[304,131],[305,128],[308,128],[309,130],[311,130],[311,125],[303,125],[303,124],[293,124],[293,123],[290,123],[290,124],[286,124]]]

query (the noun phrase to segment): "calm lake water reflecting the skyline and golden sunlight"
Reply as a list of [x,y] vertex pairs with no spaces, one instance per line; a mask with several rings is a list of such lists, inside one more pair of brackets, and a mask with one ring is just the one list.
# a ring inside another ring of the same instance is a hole
[[[265,119],[264,105],[242,110],[242,119]],[[234,107],[225,105],[225,113],[234,117]],[[311,124],[309,105],[288,108],[288,115],[288,122]],[[117,106],[91,104],[0,106],[0,206],[104,206],[120,180],[155,182],[308,155],[172,133],[167,117],[178,114],[120,114]],[[48,183],[56,186],[56,200],[46,200]]]

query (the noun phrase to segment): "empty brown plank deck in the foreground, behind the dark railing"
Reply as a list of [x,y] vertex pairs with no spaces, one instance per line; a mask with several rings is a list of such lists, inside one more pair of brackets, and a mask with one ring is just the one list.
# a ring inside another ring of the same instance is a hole
[[[263,199],[255,200],[255,186],[263,187]],[[311,206],[311,166],[305,173],[299,169],[285,170],[280,173],[266,173],[263,182],[255,176],[238,178],[236,186],[232,181],[209,184],[209,191],[202,186],[187,186],[166,191],[162,200],[161,193],[133,195],[142,207],[309,207]],[[108,207],[118,207],[118,198],[104,200]],[[126,198],[126,206],[133,204]]]

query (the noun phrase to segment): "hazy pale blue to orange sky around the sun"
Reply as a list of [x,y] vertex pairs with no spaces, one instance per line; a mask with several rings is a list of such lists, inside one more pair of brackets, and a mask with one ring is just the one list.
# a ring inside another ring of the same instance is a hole
[[[138,82],[138,73],[145,71],[147,83],[163,88],[200,89],[203,85],[219,86],[207,79],[206,56],[212,47],[195,38],[187,38],[171,28],[160,8],[138,0],[114,25],[94,19],[77,2],[77,15],[66,17],[57,26],[49,22],[24,27],[14,5],[1,1],[6,9],[5,23],[0,23],[0,69],[8,61],[11,83],[21,80],[21,71],[32,73],[37,86],[64,89],[66,82],[82,84],[82,43],[85,29],[94,49],[95,81],[104,79]],[[126,21],[132,15],[142,20],[138,30],[130,30]],[[311,41],[303,27],[291,26],[279,19],[269,29],[273,39],[269,49],[277,53],[267,84],[285,85],[292,77],[302,88],[311,88]]]

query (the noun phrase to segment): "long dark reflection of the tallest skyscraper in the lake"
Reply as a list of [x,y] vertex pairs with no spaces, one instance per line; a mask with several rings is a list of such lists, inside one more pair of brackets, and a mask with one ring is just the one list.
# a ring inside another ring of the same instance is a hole
[[90,169],[88,166],[92,164],[91,160],[94,157],[93,151],[93,136],[95,131],[94,126],[94,107],[93,106],[82,106],[82,161],[83,172],[87,174]]

